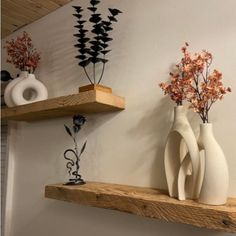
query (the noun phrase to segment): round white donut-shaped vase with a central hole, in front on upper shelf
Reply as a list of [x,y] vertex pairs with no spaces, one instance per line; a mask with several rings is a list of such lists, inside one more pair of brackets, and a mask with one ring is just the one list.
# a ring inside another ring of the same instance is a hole
[[[24,97],[26,91],[32,93],[29,99]],[[48,91],[34,74],[29,74],[12,88],[11,98],[16,105],[23,105],[47,99]]]

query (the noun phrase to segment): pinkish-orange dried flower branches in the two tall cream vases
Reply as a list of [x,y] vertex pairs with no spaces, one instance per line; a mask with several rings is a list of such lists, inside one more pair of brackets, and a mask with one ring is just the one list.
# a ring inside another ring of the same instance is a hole
[[182,105],[183,100],[187,100],[203,123],[207,123],[212,105],[227,92],[231,92],[231,88],[224,87],[222,74],[218,70],[210,72],[213,60],[211,53],[202,50],[191,55],[187,50],[188,46],[185,43],[181,49],[183,58],[176,65],[177,72],[170,73],[171,83],[161,83],[159,86],[177,105]]

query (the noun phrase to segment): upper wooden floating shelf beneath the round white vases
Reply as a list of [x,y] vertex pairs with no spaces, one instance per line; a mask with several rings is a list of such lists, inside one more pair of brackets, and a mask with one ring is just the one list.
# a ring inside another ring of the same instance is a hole
[[26,105],[3,108],[2,120],[36,121],[75,114],[119,111],[125,99],[112,93],[91,90]]

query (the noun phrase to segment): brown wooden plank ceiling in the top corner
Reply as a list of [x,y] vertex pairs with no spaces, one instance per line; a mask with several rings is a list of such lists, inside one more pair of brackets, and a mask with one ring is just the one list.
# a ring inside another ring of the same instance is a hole
[[2,34],[4,38],[19,28],[55,11],[71,0],[2,0]]

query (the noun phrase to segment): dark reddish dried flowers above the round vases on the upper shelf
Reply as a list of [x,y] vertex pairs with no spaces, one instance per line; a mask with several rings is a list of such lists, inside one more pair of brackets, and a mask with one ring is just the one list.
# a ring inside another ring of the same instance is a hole
[[38,66],[40,54],[32,44],[27,32],[18,36],[15,40],[6,41],[7,62],[15,65],[17,69],[33,73]]

